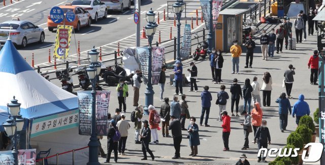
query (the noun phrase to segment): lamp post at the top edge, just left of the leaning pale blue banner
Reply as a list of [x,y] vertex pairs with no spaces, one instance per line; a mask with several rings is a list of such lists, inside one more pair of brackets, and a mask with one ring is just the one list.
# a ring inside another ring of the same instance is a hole
[[173,11],[176,14],[177,17],[177,53],[176,53],[176,59],[181,61],[181,56],[180,56],[180,43],[181,43],[181,16],[182,16],[182,11],[185,8],[185,3],[183,0],[177,0],[177,2],[173,5]]

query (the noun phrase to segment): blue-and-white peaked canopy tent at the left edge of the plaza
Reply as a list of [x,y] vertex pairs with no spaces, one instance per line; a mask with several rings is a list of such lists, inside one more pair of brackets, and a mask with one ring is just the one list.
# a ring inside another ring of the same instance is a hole
[[[77,96],[35,72],[9,39],[0,51],[0,77],[0,131],[3,130],[2,123],[8,119],[7,103],[13,96],[21,103],[20,114],[29,122],[31,119],[78,109]],[[37,152],[51,148],[50,155],[85,147],[88,142],[88,136],[78,135],[78,126],[58,129],[30,139],[31,146],[36,147]],[[85,164],[87,155],[88,149],[76,151],[75,164]],[[72,164],[72,155],[60,155],[59,160],[59,164]],[[56,158],[48,162],[56,163]]]

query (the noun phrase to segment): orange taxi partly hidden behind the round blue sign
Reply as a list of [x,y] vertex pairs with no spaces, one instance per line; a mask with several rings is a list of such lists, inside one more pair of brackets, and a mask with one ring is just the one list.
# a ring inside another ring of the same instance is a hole
[[[79,31],[82,26],[91,26],[91,16],[88,11],[85,11],[81,7],[78,6],[72,6],[71,4],[66,4],[63,6],[59,6],[64,12],[64,15],[68,12],[68,10],[72,11],[76,15],[76,19],[73,22],[66,21],[66,25],[73,26],[76,31]],[[50,15],[47,17],[47,27],[49,28],[49,31],[53,31],[53,29],[57,28],[57,25],[63,25],[63,21],[61,23],[54,23]]]

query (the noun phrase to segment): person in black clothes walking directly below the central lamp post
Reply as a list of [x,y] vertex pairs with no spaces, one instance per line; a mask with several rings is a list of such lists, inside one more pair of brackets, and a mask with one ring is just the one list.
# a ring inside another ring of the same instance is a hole
[[142,145],[143,158],[141,160],[147,160],[147,152],[150,154],[151,159],[154,160],[152,151],[149,149],[149,142],[151,140],[151,130],[148,127],[148,120],[143,120],[143,128],[141,130],[140,141]]

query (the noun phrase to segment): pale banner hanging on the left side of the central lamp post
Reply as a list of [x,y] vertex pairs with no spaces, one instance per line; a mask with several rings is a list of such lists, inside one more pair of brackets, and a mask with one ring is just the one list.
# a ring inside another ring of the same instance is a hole
[[137,47],[137,60],[140,64],[140,70],[142,72],[142,78],[144,84],[148,82],[148,67],[149,67],[149,49],[148,47]]

